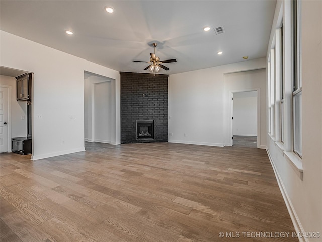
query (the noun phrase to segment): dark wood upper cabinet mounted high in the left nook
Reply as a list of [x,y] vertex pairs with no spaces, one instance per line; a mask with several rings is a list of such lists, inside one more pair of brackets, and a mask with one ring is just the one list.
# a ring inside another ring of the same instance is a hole
[[16,77],[17,79],[17,101],[31,100],[31,73],[25,73]]

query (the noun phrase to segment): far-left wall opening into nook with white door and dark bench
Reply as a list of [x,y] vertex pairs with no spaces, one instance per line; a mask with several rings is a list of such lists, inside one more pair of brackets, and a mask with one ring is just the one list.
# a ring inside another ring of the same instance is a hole
[[[31,100],[17,101],[16,77],[25,73],[31,74]],[[33,154],[33,78],[33,72],[0,66],[0,97],[2,98],[0,101],[1,152],[10,153],[13,148],[15,152],[16,147],[13,147],[13,144],[17,144],[16,153]]]

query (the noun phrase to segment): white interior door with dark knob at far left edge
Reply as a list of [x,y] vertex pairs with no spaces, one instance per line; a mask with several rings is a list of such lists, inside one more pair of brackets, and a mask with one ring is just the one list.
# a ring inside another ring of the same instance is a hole
[[8,152],[8,88],[0,87],[0,152]]

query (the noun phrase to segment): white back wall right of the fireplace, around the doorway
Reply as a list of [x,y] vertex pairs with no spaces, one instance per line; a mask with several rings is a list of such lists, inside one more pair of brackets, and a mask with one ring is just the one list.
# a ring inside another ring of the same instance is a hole
[[[229,145],[231,140],[229,135],[229,90],[244,88],[246,82],[241,80],[241,87],[226,84],[224,74],[262,69],[254,71],[254,74],[251,72],[250,77],[258,76],[255,77],[257,82],[263,83],[263,106],[266,110],[265,74],[262,75],[262,72],[265,73],[265,69],[263,69],[265,66],[265,58],[260,58],[170,75],[169,133],[172,136],[169,136],[169,142],[211,146]],[[258,72],[261,74],[257,74]],[[266,119],[265,110],[261,113],[263,120]],[[263,124],[266,132],[265,121]],[[265,147],[265,135],[263,137],[260,146]]]

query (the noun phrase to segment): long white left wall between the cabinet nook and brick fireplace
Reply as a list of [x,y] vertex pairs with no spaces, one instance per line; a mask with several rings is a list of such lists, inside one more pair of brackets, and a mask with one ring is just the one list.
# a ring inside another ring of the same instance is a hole
[[111,143],[120,143],[119,72],[4,31],[0,49],[0,66],[34,73],[32,159],[84,150],[84,71],[114,80]]

